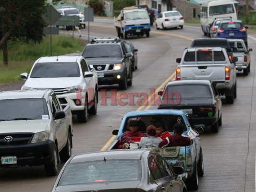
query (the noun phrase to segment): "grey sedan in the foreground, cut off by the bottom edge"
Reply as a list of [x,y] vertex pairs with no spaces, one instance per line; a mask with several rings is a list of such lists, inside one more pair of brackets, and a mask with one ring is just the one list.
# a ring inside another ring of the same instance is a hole
[[186,192],[183,172],[149,150],[85,153],[68,160],[52,192]]

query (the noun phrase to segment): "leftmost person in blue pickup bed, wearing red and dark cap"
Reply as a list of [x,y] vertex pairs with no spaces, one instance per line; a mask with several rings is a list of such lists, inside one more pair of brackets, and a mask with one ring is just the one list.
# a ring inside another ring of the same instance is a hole
[[130,120],[128,125],[129,131],[122,133],[122,137],[118,142],[118,149],[127,149],[131,142],[140,142],[142,137],[146,137],[146,134],[139,131],[138,120]]

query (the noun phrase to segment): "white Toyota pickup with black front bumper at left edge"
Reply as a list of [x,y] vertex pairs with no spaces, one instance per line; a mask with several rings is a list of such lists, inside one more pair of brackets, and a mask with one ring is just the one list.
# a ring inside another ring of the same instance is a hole
[[70,107],[62,109],[53,90],[18,90],[0,92],[0,108],[0,167],[44,165],[57,175],[59,156],[72,155]]

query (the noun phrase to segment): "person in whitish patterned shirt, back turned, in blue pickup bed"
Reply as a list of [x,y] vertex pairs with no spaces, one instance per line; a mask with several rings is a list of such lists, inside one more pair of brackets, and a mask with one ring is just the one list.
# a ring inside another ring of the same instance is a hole
[[153,125],[149,125],[146,128],[147,137],[142,137],[139,143],[139,148],[158,147],[158,144],[162,141],[161,138],[156,137],[157,129]]

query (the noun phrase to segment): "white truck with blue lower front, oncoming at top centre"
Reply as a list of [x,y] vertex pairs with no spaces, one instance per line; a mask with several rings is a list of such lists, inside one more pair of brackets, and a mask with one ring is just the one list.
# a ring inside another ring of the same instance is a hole
[[117,36],[127,39],[128,36],[149,37],[150,18],[146,9],[125,7],[117,18],[114,18]]

